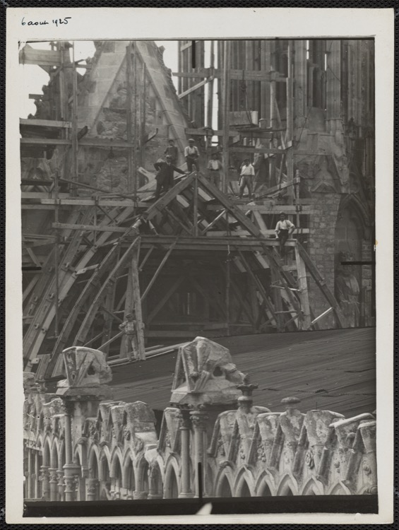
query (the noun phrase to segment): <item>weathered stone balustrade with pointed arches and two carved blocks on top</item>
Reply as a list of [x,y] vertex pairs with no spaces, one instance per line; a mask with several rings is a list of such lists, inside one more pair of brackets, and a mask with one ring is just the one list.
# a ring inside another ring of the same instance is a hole
[[[24,377],[27,499],[193,497],[200,461],[206,496],[376,493],[373,414],[302,412],[292,396],[285,411],[254,405],[256,385],[206,338],[179,351],[172,394],[182,399],[165,408],[159,435],[145,403],[102,398],[110,379],[102,352],[69,348],[64,363],[56,394]],[[203,384],[194,372],[206,372]]]

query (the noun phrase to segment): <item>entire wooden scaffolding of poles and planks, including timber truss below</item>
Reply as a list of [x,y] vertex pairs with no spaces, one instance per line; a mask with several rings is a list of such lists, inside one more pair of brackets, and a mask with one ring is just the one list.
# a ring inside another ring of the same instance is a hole
[[[181,61],[185,49],[189,49],[187,42],[180,45]],[[203,49],[198,49],[201,59]],[[129,344],[119,324],[133,308],[140,330],[141,359],[145,359],[148,348],[162,346],[160,342],[197,335],[316,329],[319,319],[328,313],[334,314],[336,326],[343,327],[338,302],[298,239],[309,233],[308,228],[301,228],[301,219],[311,214],[311,206],[301,203],[299,175],[293,175],[290,75],[227,68],[227,43],[223,71],[213,67],[206,71],[201,59],[192,72],[180,72],[182,80],[203,78],[195,85],[180,83],[182,99],[214,79],[222,80],[223,127],[212,131],[214,137],[222,138],[222,190],[202,172],[193,172],[176,177],[174,187],[160,199],[154,199],[150,188],[138,199],[143,190],[138,189],[137,175],[143,169],[135,153],[140,151],[143,135],[134,89],[136,54],[133,46],[128,47],[128,140],[120,143],[129,151],[130,193],[82,197],[77,192],[84,187],[78,177],[78,147],[116,146],[117,141],[79,138],[76,63],[68,61],[65,44],[52,51],[51,57],[38,50],[28,49],[28,54],[35,64],[47,61],[44,66],[49,68],[50,61],[56,66],[52,82],[59,80],[59,116],[54,120],[21,120],[21,144],[60,146],[64,150],[60,159],[70,163],[61,163],[59,171],[43,182],[22,181],[28,186],[22,192],[23,208],[49,211],[44,220],[49,227],[47,235],[23,234],[26,252],[35,264],[23,292],[25,370],[34,370],[42,378],[56,376],[59,354],[73,345],[100,349],[109,359],[126,358]],[[27,60],[25,50],[21,61]],[[65,71],[71,71],[72,77]],[[242,76],[270,83],[270,123],[230,126],[230,81]],[[273,95],[276,83],[285,83],[287,90],[284,125]],[[190,103],[189,110],[204,123],[205,115],[198,106]],[[209,144],[209,134],[197,125],[186,129],[187,137],[203,136]],[[54,129],[59,134],[51,134]],[[255,201],[234,199],[237,182],[229,172],[230,153],[267,155],[275,186],[263,186]],[[68,184],[67,191],[62,191],[61,184]],[[287,192],[287,204],[275,204],[273,196],[282,192]],[[293,216],[297,226],[295,238],[286,244],[284,259],[271,228],[280,211]],[[35,258],[39,245],[49,245],[50,249],[43,263]],[[309,276],[328,301],[329,309],[323,314],[312,311]]]

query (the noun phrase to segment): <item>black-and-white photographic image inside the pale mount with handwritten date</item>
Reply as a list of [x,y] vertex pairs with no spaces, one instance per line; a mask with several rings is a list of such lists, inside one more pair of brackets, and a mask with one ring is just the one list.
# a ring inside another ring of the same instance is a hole
[[371,35],[19,43],[28,515],[378,514],[375,66]]

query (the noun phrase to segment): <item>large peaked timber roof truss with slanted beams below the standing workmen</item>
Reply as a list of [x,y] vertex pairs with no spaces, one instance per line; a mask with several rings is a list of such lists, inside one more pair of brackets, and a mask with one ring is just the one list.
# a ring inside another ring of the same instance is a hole
[[[75,206],[66,223],[54,223],[59,266],[53,249],[24,292],[25,370],[56,376],[59,354],[74,345],[126,358],[119,324],[133,308],[142,359],[145,341],[315,329],[330,312],[343,327],[304,247],[288,240],[280,257],[267,228],[277,208],[270,201],[237,204],[200,172],[151,200]],[[309,276],[328,302],[321,315],[311,310]]]

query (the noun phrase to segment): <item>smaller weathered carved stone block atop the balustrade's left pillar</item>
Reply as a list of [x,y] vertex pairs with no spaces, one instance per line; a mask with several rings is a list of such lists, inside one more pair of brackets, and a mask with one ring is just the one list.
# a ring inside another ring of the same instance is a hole
[[[57,384],[56,394],[109,394],[112,372],[105,353],[83,346],[72,346],[62,352],[66,379]],[[97,390],[96,390],[97,389]]]

